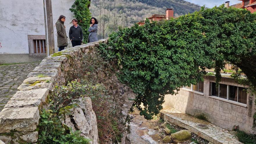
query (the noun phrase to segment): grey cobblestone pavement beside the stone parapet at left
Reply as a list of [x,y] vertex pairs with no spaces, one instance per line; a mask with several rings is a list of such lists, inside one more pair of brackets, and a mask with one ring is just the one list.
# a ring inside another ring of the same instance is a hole
[[16,93],[19,85],[40,62],[0,66],[0,111]]

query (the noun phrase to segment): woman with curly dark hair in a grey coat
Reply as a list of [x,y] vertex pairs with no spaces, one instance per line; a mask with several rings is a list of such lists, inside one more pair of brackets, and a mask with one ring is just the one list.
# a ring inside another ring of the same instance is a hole
[[90,27],[88,29],[88,32],[90,32],[88,37],[88,42],[98,41],[97,30],[98,30],[98,21],[97,19],[92,17],[90,20]]

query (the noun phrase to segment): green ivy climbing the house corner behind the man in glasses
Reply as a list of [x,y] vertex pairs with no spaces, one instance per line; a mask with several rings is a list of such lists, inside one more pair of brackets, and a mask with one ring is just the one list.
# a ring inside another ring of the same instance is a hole
[[88,42],[89,35],[88,28],[90,26],[91,13],[88,6],[90,6],[89,0],[76,0],[69,9],[74,13],[74,17],[83,30],[83,43]]

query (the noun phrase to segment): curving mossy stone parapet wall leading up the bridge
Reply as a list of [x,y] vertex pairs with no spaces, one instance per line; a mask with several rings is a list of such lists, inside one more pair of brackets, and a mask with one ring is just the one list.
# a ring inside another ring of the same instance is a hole
[[43,59],[19,86],[0,112],[0,139],[5,143],[34,143],[38,139],[40,111],[54,86],[79,77],[83,55],[107,39],[71,47]]

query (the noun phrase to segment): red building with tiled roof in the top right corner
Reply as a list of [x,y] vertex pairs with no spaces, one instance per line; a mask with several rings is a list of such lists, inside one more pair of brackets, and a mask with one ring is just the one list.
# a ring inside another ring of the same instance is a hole
[[[256,12],[256,0],[240,0],[240,1],[242,1],[242,2],[232,5],[232,7],[235,7],[235,8],[246,8],[251,13]],[[225,6],[229,7],[229,1],[225,2]]]

